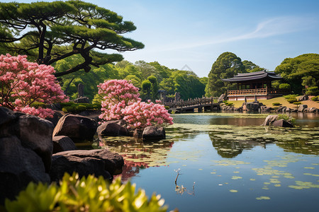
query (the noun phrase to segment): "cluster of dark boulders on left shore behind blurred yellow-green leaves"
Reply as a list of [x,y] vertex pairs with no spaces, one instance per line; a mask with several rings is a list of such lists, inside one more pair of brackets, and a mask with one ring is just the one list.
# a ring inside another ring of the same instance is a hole
[[73,139],[93,139],[98,125],[94,119],[65,115],[54,129],[46,119],[6,107],[0,107],[0,117],[0,205],[29,182],[58,181],[65,172],[110,180],[121,173],[121,155],[105,149],[76,150]]

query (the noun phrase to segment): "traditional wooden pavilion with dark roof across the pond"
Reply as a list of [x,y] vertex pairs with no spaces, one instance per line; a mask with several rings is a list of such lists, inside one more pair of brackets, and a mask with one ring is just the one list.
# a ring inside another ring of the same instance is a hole
[[267,71],[238,73],[233,78],[222,79],[224,82],[237,83],[237,90],[228,90],[228,100],[269,100],[284,95],[290,90],[272,88],[272,81],[281,79],[280,75]]

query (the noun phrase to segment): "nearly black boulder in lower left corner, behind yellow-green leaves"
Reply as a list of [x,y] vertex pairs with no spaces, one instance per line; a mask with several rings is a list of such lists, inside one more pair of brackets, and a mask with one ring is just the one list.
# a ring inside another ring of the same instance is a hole
[[42,158],[16,136],[0,139],[0,161],[0,204],[14,199],[29,182],[50,183]]

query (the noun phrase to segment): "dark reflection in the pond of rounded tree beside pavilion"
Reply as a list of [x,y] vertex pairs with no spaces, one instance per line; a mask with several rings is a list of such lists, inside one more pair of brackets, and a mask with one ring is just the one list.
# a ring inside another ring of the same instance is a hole
[[258,141],[230,141],[229,139],[221,139],[216,132],[210,132],[209,138],[216,148],[218,155],[223,158],[235,158],[242,153],[244,149],[252,149],[254,146],[264,146],[264,143]]

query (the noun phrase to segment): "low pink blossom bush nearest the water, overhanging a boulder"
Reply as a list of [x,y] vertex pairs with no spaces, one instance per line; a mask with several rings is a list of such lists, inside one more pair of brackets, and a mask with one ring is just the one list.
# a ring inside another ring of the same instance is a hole
[[133,129],[144,128],[145,126],[173,124],[173,118],[167,112],[164,105],[153,102],[135,102],[133,105],[125,107],[123,114],[125,115],[123,119]]

